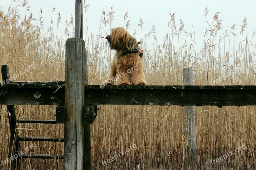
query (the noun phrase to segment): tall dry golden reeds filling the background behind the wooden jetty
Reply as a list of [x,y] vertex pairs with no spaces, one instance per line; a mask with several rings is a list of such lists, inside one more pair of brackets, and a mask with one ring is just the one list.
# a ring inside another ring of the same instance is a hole
[[[24,5],[24,11],[27,8]],[[88,6],[86,7],[87,10]],[[18,8],[20,9],[20,8]],[[29,11],[29,9],[27,10]],[[113,58],[105,37],[111,27],[114,9],[103,13],[102,25],[97,35],[85,32],[88,52],[89,84],[101,84],[106,79],[109,63]],[[206,21],[208,9],[204,15]],[[128,14],[125,14],[127,19]],[[60,17],[60,15],[59,15]],[[64,81],[64,44],[73,36],[73,19],[67,21],[65,35],[60,38],[59,30],[53,33],[53,25],[43,33],[40,19],[33,25],[32,16],[15,8],[0,11],[0,65],[9,64],[10,73],[24,70],[35,63],[36,69],[17,78],[17,81]],[[211,19],[210,19],[211,20]],[[124,25],[129,23],[124,20]],[[145,54],[145,73],[150,85],[182,85],[182,69],[191,67],[195,85],[255,85],[255,46],[246,32],[247,20],[240,35],[221,30],[217,12],[209,25],[206,22],[204,44],[195,49],[195,33],[186,32],[182,20],[175,23],[175,13],[170,14],[167,36],[163,41],[156,39],[156,30],[142,36]],[[59,28],[58,23],[58,28]],[[238,27],[238,26],[236,26]],[[240,28],[239,28],[240,29]],[[222,34],[223,33],[223,34]],[[58,36],[57,36],[58,35]],[[221,36],[221,37],[220,37]],[[148,44],[152,38],[153,45]],[[220,37],[220,38],[219,38]],[[234,39],[235,38],[235,39]],[[185,40],[185,41],[184,41]],[[240,43],[239,43],[240,42]],[[235,44],[235,45],[234,45]],[[199,50],[199,51],[198,51]],[[229,75],[223,81],[217,80]],[[10,136],[6,107],[0,106],[0,160],[8,158],[8,137]],[[19,119],[54,120],[53,106],[16,106]],[[254,106],[196,107],[196,131],[199,169],[255,169],[256,168],[256,108]],[[20,124],[19,135],[30,137],[63,137],[63,125]],[[100,106],[98,116],[91,126],[92,159],[95,169],[185,169],[185,133],[183,107],[170,106]],[[21,142],[25,148],[31,142]],[[105,161],[117,152],[136,144],[138,149],[103,166]],[[235,151],[243,144],[248,148],[212,166],[210,159],[216,159],[226,152]],[[36,142],[37,149],[31,153],[63,154],[63,143]],[[25,169],[63,169],[62,160],[23,159]],[[2,169],[8,169],[1,165]]]

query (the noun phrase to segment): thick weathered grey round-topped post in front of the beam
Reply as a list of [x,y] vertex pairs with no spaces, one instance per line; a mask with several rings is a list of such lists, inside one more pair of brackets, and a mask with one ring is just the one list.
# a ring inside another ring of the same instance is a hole
[[64,170],[84,170],[84,82],[85,43],[81,38],[66,41]]

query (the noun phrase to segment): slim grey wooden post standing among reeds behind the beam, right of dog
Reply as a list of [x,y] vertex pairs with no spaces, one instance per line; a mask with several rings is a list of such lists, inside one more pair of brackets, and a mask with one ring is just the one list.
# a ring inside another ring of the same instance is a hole
[[[183,69],[183,85],[194,85],[193,69]],[[185,106],[185,134],[187,144],[187,169],[196,169],[197,146],[196,146],[196,122],[195,106]]]

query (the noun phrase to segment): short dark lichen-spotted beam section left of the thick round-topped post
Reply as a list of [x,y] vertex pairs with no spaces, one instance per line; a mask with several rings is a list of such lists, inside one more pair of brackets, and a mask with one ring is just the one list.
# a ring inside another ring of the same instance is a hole
[[[0,85],[1,86],[1,85]],[[0,105],[64,105],[60,84],[6,84],[0,87]]]

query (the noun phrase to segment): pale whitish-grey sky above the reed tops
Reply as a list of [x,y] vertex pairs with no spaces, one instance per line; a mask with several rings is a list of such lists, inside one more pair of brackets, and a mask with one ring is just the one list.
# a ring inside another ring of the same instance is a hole
[[[7,11],[8,7],[17,6],[18,2],[12,4],[11,0],[0,0],[2,3],[2,10]],[[133,34],[134,29],[137,28],[137,39],[141,38],[139,24],[140,17],[144,22],[143,36],[147,34],[152,25],[156,28],[157,40],[162,43],[168,28],[168,14],[176,12],[176,26],[179,29],[180,19],[182,19],[185,25],[185,31],[191,32],[192,26],[196,32],[196,42],[199,48],[202,48],[202,42],[205,32],[204,13],[205,6],[209,9],[208,21],[212,21],[213,15],[220,11],[220,19],[222,20],[222,30],[219,35],[224,33],[225,30],[230,30],[230,27],[236,24],[236,33],[239,35],[241,24],[246,17],[248,20],[247,32],[249,40],[251,40],[253,30],[256,28],[256,12],[255,0],[86,0],[86,4],[89,4],[89,10],[87,11],[87,23],[89,34],[93,32],[97,33],[97,29],[100,26],[100,19],[102,17],[102,10],[110,11],[113,6],[116,13],[114,14],[113,27],[124,25],[124,14],[128,11],[131,29],[128,31]],[[28,0],[28,6],[30,6],[30,12],[33,17],[39,18],[39,11],[42,8],[42,19],[44,21],[45,30],[50,26],[52,8],[55,7],[53,13],[53,27],[57,27],[58,13],[61,14],[60,29],[64,30],[64,24],[66,19],[70,19],[71,14],[75,16],[75,0]],[[22,8],[19,6],[18,10],[21,12]],[[86,36],[86,21],[84,15],[84,39]],[[109,30],[108,30],[109,31]],[[239,37],[238,37],[239,38]],[[238,39],[239,40],[239,39]],[[255,37],[254,40],[255,42]],[[238,42],[238,41],[236,41]]]

